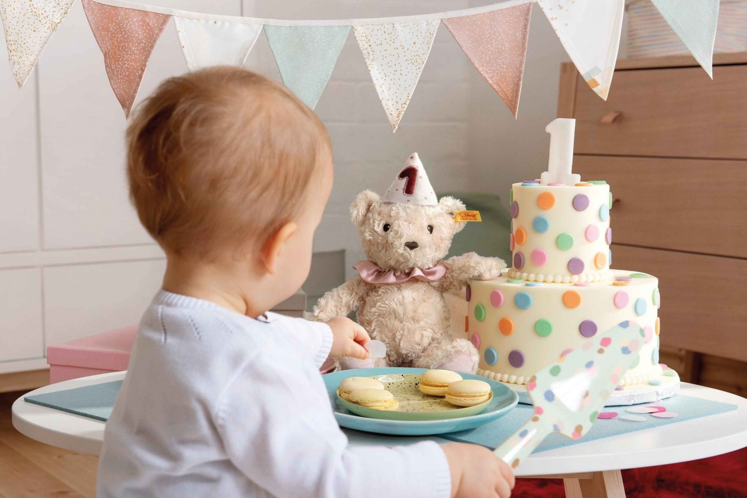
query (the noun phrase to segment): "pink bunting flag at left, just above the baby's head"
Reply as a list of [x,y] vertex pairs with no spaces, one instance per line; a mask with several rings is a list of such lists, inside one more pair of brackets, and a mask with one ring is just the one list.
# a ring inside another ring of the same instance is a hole
[[111,89],[129,117],[155,42],[171,16],[81,0],[104,54]]

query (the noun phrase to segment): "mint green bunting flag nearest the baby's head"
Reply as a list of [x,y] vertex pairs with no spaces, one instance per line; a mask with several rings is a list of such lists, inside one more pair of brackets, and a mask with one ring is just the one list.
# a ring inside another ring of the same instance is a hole
[[264,26],[283,84],[314,109],[350,26]]

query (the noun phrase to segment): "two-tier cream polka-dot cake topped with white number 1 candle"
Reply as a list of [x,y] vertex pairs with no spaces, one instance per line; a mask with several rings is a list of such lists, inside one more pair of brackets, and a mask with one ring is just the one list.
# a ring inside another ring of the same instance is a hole
[[616,382],[656,383],[658,280],[610,269],[610,186],[571,174],[574,124],[548,125],[549,171],[512,186],[512,268],[468,286],[465,327],[480,351],[477,373],[526,384],[574,348],[592,347],[597,333],[632,320],[643,327],[643,344],[634,367]]

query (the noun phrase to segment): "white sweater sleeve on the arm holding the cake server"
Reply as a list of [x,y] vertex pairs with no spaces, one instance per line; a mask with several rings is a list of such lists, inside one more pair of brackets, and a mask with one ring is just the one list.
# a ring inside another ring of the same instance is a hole
[[348,447],[320,382],[280,354],[253,359],[225,391],[216,426],[233,464],[273,496],[448,498],[438,444]]

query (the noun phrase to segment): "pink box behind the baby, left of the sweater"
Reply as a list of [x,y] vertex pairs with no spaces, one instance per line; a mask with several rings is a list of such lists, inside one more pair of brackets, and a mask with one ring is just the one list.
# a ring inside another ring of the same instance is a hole
[[47,347],[49,382],[127,370],[137,325]]

